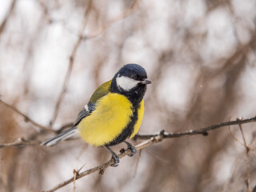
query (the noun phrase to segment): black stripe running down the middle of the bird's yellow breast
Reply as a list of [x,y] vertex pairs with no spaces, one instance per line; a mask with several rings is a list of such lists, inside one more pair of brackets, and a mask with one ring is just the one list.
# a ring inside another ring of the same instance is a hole
[[126,138],[130,138],[130,135],[134,133],[134,125],[138,121],[138,106],[132,106],[133,114],[130,117],[130,122],[125,127],[125,129],[122,130],[122,133],[118,135],[118,137],[114,138],[112,142],[109,142],[106,144],[106,146],[115,146],[118,145],[118,143],[124,142]]

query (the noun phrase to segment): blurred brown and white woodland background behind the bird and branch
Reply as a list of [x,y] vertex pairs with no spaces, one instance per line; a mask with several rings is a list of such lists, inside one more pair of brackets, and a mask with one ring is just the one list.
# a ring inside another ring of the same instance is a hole
[[[1,99],[58,130],[74,122],[94,90],[122,65],[138,63],[153,82],[140,134],[254,117],[255,22],[255,0],[0,1]],[[207,137],[170,138],[122,158],[102,175],[79,179],[75,191],[251,191],[255,123],[242,128],[248,154],[238,126],[232,134],[222,128]],[[54,134],[42,130],[0,102],[0,144],[18,138],[38,143]],[[106,150],[82,139],[51,148],[3,147],[0,191],[50,189],[72,178],[74,169],[108,159]]]

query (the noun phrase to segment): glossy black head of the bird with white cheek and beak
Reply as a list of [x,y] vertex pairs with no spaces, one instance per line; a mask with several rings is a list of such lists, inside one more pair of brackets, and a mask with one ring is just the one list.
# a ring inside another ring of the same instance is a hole
[[142,66],[127,64],[114,75],[110,92],[123,94],[129,98],[130,102],[137,105],[142,101],[146,92],[146,84],[150,83],[146,70]]

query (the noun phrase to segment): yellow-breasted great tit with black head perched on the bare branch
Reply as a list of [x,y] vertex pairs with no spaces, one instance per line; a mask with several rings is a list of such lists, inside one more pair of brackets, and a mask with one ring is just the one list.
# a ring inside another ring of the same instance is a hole
[[54,146],[58,142],[79,134],[87,143],[102,146],[112,154],[118,166],[118,155],[109,146],[125,142],[131,150],[136,148],[126,142],[137,134],[144,114],[144,94],[150,84],[146,70],[138,64],[122,66],[114,78],[99,86],[90,101],[84,106],[74,122],[74,126],[61,134],[42,142],[42,146]]

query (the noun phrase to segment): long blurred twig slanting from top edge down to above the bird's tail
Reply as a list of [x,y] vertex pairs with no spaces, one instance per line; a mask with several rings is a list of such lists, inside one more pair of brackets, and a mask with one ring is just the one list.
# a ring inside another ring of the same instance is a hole
[[58,100],[57,100],[56,105],[55,105],[54,115],[53,115],[52,120],[50,121],[50,126],[54,124],[54,122],[55,122],[55,120],[58,116],[58,110],[59,110],[60,104],[62,103],[62,100],[63,100],[64,95],[66,93],[66,87],[68,85],[68,82],[70,81],[70,74],[71,74],[71,71],[72,71],[73,66],[74,66],[74,57],[76,56],[78,47],[80,46],[80,44],[82,42],[83,33],[84,33],[84,30],[86,29],[86,24],[87,24],[86,17],[90,13],[91,6],[92,6],[92,0],[90,0],[88,2],[88,5],[86,6],[84,22],[82,24],[82,28],[81,28],[80,33],[78,35],[78,40],[74,44],[74,48],[73,48],[72,53],[70,55],[69,67],[68,67],[68,70],[66,71],[66,77],[65,77],[65,80],[64,80],[64,83],[63,83],[63,86],[62,86],[62,91],[59,94]]

